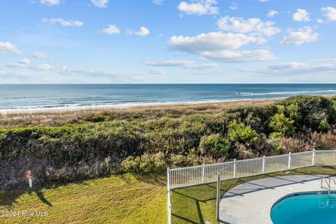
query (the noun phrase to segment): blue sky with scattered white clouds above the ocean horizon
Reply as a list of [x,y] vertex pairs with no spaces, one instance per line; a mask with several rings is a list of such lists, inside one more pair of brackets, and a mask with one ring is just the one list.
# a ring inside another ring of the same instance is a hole
[[336,83],[335,0],[0,1],[0,84]]

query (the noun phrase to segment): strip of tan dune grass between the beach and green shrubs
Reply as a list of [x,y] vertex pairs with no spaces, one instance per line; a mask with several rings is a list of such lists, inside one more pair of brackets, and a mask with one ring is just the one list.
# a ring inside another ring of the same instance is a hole
[[137,106],[124,109],[106,108],[91,109],[87,111],[59,111],[3,115],[0,113],[0,129],[12,129],[21,127],[59,127],[63,125],[90,124],[102,121],[137,121],[146,122],[160,118],[180,118],[192,114],[216,115],[227,109],[251,106],[269,106],[280,99],[243,100],[233,102],[218,102],[204,104],[172,104]]

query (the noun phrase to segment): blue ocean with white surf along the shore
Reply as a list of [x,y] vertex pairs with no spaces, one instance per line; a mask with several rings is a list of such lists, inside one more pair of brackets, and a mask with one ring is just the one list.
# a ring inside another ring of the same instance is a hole
[[336,84],[0,85],[0,109],[141,106],[336,94]]

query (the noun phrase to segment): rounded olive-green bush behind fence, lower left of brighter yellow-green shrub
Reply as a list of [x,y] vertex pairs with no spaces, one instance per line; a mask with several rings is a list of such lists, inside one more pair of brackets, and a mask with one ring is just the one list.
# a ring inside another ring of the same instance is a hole
[[222,155],[228,157],[230,154],[231,143],[228,139],[221,137],[220,134],[204,136],[200,141],[200,150],[203,154]]

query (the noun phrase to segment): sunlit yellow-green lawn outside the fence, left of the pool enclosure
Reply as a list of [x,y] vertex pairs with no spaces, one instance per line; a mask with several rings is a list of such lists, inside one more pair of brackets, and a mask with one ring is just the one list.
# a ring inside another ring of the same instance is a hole
[[0,211],[48,211],[44,218],[0,217],[0,223],[165,223],[165,181],[125,174],[0,195]]

